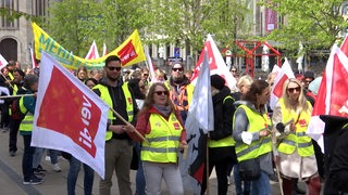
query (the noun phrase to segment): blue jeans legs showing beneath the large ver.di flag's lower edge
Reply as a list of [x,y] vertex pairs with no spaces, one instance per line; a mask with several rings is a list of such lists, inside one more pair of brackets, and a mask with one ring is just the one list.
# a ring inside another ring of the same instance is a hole
[[[70,161],[70,169],[69,169],[67,180],[66,180],[67,195],[75,195],[76,180],[78,177],[82,162],[74,156],[72,156],[72,158],[69,161]],[[85,192],[85,195],[91,195],[95,171],[86,164],[83,164],[83,165],[84,165],[84,171],[85,171],[84,192]]]

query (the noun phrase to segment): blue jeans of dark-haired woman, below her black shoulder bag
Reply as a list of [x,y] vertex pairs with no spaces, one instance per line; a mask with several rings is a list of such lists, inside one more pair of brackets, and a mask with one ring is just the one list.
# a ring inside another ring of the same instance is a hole
[[271,184],[269,174],[261,170],[258,180],[251,182],[251,195],[269,195],[271,194]]

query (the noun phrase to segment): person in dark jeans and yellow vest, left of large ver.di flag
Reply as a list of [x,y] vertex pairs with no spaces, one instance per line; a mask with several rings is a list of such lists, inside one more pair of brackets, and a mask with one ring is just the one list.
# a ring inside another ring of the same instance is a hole
[[[38,88],[38,77],[36,75],[28,75],[24,78],[24,87],[28,89],[27,94],[34,94]],[[34,174],[33,170],[33,156],[35,147],[30,146],[34,113],[36,105],[36,96],[22,96],[20,99],[20,108],[25,114],[24,119],[20,125],[20,132],[23,135],[24,141],[24,154],[22,159],[22,170],[24,174],[23,184],[39,184],[44,179]]]

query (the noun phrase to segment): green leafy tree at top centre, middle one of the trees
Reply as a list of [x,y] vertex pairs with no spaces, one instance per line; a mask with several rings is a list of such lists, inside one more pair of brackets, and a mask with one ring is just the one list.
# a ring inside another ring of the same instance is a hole
[[146,28],[148,42],[190,46],[198,54],[208,34],[225,47],[241,30],[247,12],[237,0],[152,0],[148,5],[151,25]]

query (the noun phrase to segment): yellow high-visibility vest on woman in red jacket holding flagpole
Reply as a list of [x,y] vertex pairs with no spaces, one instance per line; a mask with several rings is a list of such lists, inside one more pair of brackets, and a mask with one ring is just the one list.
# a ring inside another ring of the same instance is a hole
[[169,120],[159,114],[150,114],[151,132],[142,142],[141,160],[154,162],[177,162],[177,152],[183,127],[174,113]]

